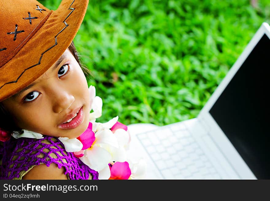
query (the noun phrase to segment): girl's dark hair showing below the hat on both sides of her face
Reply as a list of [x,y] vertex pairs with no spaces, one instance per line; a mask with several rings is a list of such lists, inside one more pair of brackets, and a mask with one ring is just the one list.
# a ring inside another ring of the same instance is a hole
[[[80,61],[80,55],[78,54],[73,41],[68,46],[68,50],[75,57],[76,61],[80,65],[81,69],[83,70],[83,73],[84,73],[85,77],[87,77],[87,78],[90,77],[91,76],[91,72]],[[3,130],[9,131],[9,132],[13,132],[15,130],[20,130],[20,128],[18,128],[15,125],[15,123],[13,121],[13,117],[11,116],[11,114],[4,108],[4,106],[2,105],[1,102],[0,102],[0,128],[2,128]]]

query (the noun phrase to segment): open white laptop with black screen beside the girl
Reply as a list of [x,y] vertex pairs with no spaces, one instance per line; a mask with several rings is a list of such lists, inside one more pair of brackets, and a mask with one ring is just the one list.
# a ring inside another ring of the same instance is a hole
[[263,23],[198,117],[129,125],[145,179],[270,179],[270,27]]

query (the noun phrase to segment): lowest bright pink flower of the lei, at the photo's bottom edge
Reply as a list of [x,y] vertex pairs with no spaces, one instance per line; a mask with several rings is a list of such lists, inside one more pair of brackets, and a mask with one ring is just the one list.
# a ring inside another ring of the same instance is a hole
[[115,162],[110,166],[111,176],[109,179],[129,179],[131,170],[128,162]]

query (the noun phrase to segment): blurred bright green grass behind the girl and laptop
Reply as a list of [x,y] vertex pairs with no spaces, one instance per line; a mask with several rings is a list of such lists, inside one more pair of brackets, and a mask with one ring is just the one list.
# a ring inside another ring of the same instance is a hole
[[[56,9],[60,0],[41,0]],[[268,0],[92,0],[74,39],[105,122],[166,125],[196,117],[270,22]]]

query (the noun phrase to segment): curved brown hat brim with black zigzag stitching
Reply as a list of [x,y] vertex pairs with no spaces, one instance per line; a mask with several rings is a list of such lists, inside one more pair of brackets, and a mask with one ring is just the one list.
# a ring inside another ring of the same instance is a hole
[[42,76],[71,44],[83,21],[88,0],[62,0],[46,22],[0,74],[0,102]]

